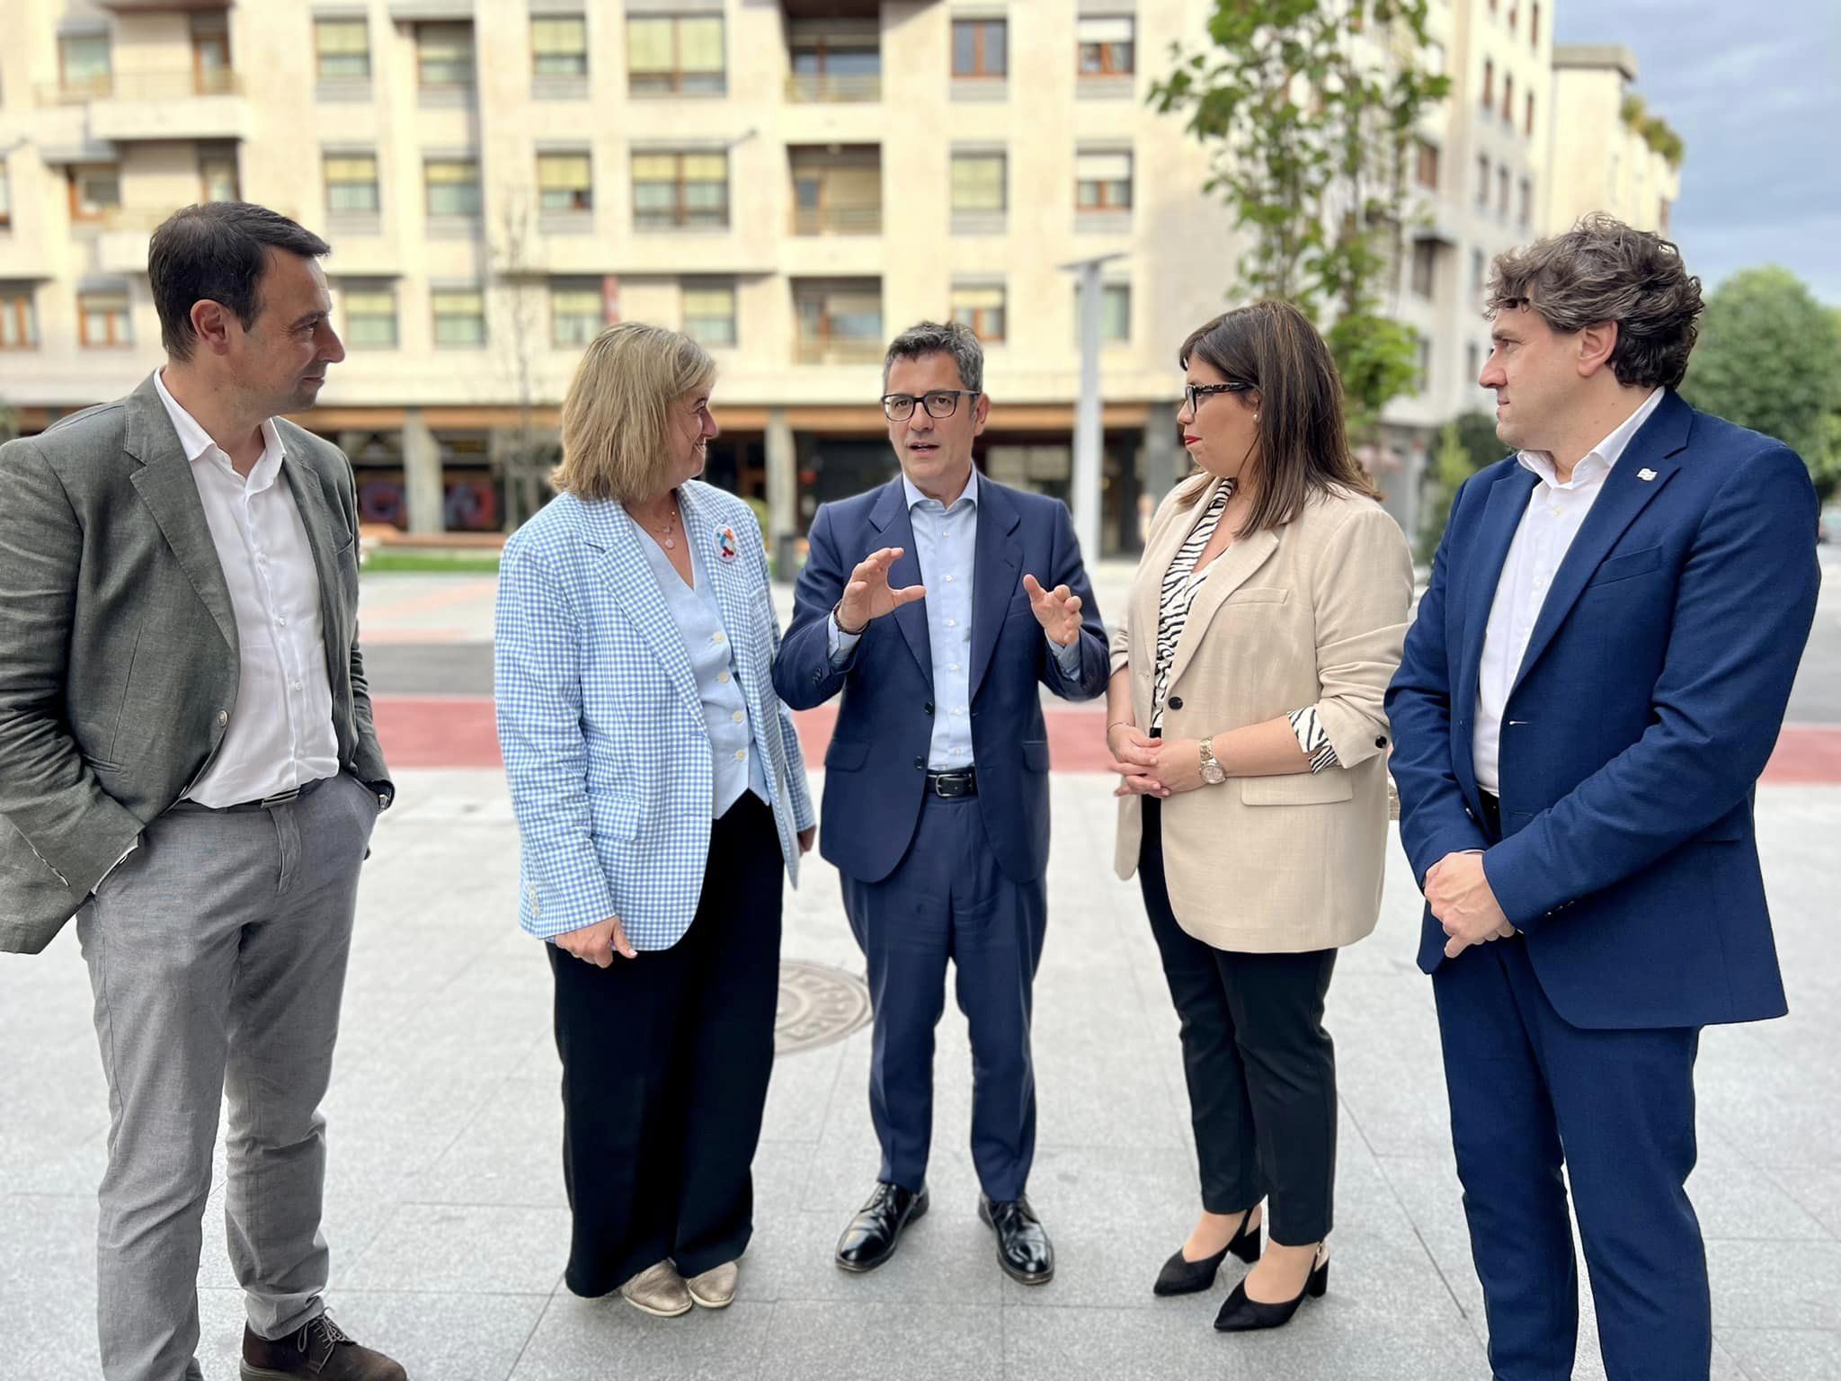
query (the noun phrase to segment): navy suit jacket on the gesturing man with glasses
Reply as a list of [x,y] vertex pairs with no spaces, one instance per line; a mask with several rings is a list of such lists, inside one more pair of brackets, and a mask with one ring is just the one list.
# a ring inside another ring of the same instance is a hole
[[[933,737],[933,652],[924,600],[874,619],[838,668],[828,619],[856,563],[900,547],[889,584],[922,584],[900,477],[817,510],[799,573],[793,622],[773,661],[773,687],[793,709],[839,690],[838,727],[825,753],[819,853],[862,882],[880,882],[908,853],[926,786]],[[1048,867],[1048,725],[1038,685],[1066,700],[1106,689],[1106,633],[1081,565],[1068,508],[1059,499],[978,482],[972,554],[972,757],[978,807],[998,865],[1016,882]],[[1062,676],[1022,578],[1081,597],[1081,670]]]

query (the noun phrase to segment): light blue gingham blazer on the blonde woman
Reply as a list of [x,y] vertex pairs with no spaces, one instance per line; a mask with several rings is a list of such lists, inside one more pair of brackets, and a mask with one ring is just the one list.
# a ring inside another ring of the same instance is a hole
[[[679,490],[685,540],[703,558],[735,648],[753,751],[793,882],[814,823],[805,759],[773,692],[779,619],[753,510]],[[499,749],[523,845],[517,921],[550,939],[619,915],[637,950],[690,928],[709,858],[716,786],[683,633],[613,501],[562,493],[504,545],[499,567]],[[735,556],[724,558],[729,543]]]

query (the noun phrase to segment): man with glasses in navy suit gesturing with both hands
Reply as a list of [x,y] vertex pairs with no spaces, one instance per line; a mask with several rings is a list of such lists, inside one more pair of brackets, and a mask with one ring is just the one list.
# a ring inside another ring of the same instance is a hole
[[926,1212],[933,1027],[946,961],[972,1035],[972,1160],[998,1263],[1038,1285],[1055,1254],[1025,1197],[1035,1155],[1029,994],[1048,919],[1040,689],[1106,689],[1106,639],[1068,510],[972,468],[985,359],[959,324],[889,346],[882,411],[902,473],[812,519],[773,687],[839,690],[819,851],[869,961],[869,1110],[882,1171],[838,1243],[871,1271]]

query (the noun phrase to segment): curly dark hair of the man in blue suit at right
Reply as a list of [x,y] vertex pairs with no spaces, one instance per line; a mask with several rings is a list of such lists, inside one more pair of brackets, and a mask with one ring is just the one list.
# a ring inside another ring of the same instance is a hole
[[1616,381],[1675,389],[1699,331],[1701,280],[1673,241],[1596,212],[1565,234],[1497,254],[1484,313],[1523,306],[1565,333],[1616,322]]

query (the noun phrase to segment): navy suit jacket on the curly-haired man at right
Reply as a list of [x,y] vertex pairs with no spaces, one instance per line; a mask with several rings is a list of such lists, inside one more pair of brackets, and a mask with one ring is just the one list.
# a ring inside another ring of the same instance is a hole
[[[1815,617],[1797,455],[1670,392],[1611,468],[1535,621],[1502,722],[1502,840],[1471,760],[1484,628],[1535,477],[1451,508],[1388,690],[1412,873],[1484,849],[1548,1000],[1580,1027],[1782,1016],[1753,788]],[[1425,913],[1419,967],[1443,961]]]

